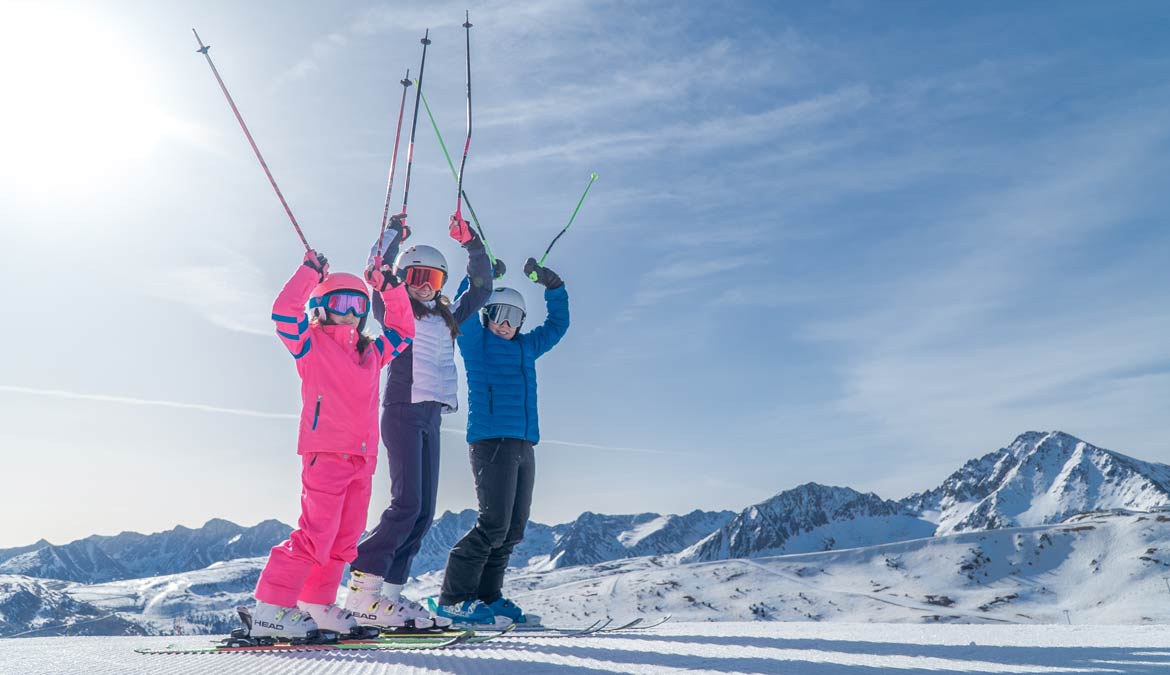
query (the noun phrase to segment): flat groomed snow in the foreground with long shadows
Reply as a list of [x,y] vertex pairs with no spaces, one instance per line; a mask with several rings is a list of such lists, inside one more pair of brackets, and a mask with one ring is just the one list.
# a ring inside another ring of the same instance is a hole
[[191,638],[0,641],[0,675],[1170,673],[1170,627],[667,624],[598,638],[519,638],[432,652],[158,655]]

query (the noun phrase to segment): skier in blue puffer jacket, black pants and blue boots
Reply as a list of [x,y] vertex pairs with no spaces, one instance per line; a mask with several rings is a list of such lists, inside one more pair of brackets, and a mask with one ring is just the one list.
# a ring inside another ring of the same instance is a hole
[[534,446],[541,441],[536,404],[536,359],[569,330],[569,294],[555,271],[528,259],[548,318],[529,332],[524,296],[496,288],[482,317],[460,326],[459,349],[467,370],[467,442],[480,514],[452,549],[442,592],[432,609],[459,626],[537,625],[501,592],[512,549],[524,538],[536,476]]

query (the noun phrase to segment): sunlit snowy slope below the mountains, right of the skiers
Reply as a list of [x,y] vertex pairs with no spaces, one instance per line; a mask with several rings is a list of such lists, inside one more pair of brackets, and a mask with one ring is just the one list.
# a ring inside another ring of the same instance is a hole
[[[668,557],[521,574],[508,592],[559,621],[1142,624],[1170,620],[1170,514],[1093,514],[880,546],[675,565]],[[434,580],[425,580],[431,585]],[[426,584],[417,593],[432,588]]]

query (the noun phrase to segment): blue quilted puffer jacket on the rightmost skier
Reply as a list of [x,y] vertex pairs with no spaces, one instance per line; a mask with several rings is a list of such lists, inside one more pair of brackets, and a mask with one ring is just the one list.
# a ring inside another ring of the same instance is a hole
[[460,325],[459,351],[467,370],[467,442],[523,439],[541,442],[536,408],[536,359],[569,330],[569,292],[546,289],[544,324],[505,340],[476,314]]

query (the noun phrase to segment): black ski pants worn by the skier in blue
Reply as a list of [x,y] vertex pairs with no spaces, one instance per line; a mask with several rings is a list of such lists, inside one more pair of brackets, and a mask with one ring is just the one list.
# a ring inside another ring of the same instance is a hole
[[500,599],[508,558],[524,539],[532,507],[536,477],[532,443],[489,439],[472,443],[468,453],[480,515],[450,550],[440,605],[476,599],[490,605]]

